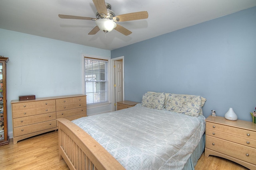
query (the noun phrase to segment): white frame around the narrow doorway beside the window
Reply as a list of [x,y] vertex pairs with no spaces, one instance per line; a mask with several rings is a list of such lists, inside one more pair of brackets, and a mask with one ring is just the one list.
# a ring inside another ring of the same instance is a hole
[[116,60],[122,60],[123,64],[123,100],[124,100],[124,56],[121,57],[116,57],[114,59],[110,59],[110,66],[111,66],[111,75],[110,75],[110,80],[111,80],[111,110],[114,111],[114,104],[115,104],[115,69],[114,69],[114,64]]

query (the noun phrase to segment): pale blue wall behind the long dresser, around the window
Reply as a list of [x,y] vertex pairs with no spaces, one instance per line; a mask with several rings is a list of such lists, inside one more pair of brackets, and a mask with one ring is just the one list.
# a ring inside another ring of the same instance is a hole
[[36,98],[82,94],[82,54],[110,58],[108,50],[0,29],[0,55],[10,60],[6,64],[10,138],[11,100],[28,94]]

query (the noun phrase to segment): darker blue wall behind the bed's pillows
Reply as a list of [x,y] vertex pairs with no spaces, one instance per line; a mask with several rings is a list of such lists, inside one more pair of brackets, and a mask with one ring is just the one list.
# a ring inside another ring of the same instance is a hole
[[[164,26],[164,25],[162,25]],[[224,116],[252,121],[256,107],[256,7],[111,51],[124,56],[125,100],[147,91],[200,95]]]

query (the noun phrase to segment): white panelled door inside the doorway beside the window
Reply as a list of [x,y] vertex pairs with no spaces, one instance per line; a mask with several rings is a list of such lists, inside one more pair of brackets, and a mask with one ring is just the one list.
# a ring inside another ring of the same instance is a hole
[[[123,61],[115,61],[115,103],[123,100]],[[116,110],[117,106],[115,107]]]

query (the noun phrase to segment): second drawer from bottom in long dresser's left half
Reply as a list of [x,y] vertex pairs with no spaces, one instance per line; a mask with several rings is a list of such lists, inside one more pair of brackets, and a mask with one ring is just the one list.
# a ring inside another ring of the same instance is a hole
[[13,127],[20,127],[25,125],[30,125],[34,123],[40,123],[44,121],[50,121],[56,119],[56,113],[45,113],[40,115],[33,115],[27,117],[20,117],[13,119]]

